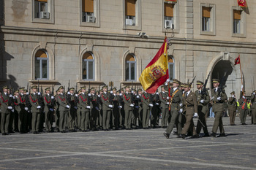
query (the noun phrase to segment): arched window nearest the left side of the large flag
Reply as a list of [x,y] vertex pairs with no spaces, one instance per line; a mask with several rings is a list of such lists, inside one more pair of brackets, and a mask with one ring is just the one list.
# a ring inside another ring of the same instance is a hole
[[125,58],[125,80],[136,80],[136,58],[132,54],[128,54]]

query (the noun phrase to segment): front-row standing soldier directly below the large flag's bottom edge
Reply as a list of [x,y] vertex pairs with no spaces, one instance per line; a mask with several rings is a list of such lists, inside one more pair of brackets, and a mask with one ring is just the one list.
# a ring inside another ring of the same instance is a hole
[[142,103],[143,103],[142,126],[144,129],[148,129],[150,109],[151,107],[153,107],[153,104],[151,104],[151,94],[146,93],[146,91],[144,91],[142,93]]

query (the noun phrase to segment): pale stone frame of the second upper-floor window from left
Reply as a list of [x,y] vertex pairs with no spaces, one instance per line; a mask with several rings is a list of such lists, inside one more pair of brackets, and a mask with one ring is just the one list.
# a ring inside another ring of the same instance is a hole
[[[91,23],[91,22],[86,22],[83,21],[83,7],[82,7],[82,1],[83,0],[79,0],[79,15],[80,15],[80,26],[89,26],[89,27],[99,27],[100,24],[100,15],[99,15],[99,0],[94,0],[94,13],[93,16],[95,17],[95,22]],[[92,15],[91,15],[92,16]]]

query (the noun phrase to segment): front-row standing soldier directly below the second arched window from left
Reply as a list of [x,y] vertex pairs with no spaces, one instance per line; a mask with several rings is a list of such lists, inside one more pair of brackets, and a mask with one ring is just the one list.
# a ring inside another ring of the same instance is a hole
[[81,130],[83,132],[89,130],[89,115],[91,112],[91,105],[89,96],[86,95],[86,87],[81,88],[82,93],[79,96],[80,111],[81,111]]

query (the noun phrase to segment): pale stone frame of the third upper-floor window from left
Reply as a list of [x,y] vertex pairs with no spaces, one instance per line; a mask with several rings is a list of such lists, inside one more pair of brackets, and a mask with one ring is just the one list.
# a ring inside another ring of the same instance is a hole
[[123,0],[123,29],[141,30],[141,0],[137,0],[135,4],[135,25],[126,25],[127,15],[125,15],[125,0]]

